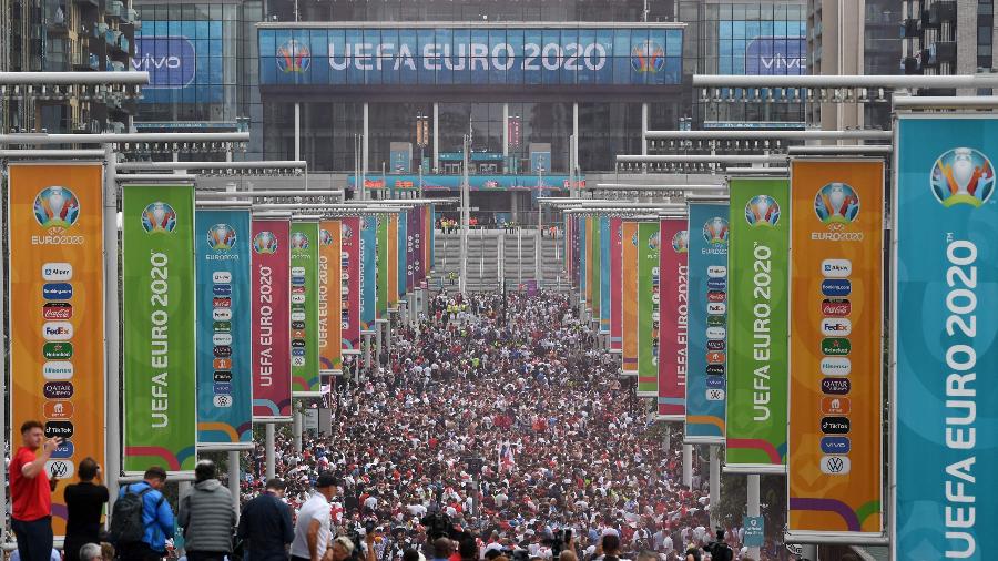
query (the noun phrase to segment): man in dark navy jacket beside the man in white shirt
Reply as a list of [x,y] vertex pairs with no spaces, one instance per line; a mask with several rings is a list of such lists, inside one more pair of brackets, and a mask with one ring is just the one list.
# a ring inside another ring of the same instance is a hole
[[245,561],[286,561],[286,547],[295,539],[291,507],[284,502],[286,484],[267,481],[266,490],[243,507],[238,537],[246,541]]

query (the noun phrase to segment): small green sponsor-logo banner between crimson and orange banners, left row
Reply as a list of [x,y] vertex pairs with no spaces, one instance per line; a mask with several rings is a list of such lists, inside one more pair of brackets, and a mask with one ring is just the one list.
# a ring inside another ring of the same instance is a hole
[[293,397],[322,395],[318,366],[318,222],[292,222]]

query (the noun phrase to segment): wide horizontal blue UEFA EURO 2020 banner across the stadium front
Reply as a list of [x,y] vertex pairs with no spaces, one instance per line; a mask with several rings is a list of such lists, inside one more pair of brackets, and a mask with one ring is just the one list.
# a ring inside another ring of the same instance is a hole
[[[261,85],[674,85],[683,29],[671,23],[296,28],[263,24]],[[401,90],[400,90],[401,91]]]

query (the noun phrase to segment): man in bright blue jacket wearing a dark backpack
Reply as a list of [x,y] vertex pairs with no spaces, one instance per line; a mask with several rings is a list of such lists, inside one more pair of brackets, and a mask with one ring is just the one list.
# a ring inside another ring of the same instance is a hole
[[153,466],[144,479],[122,487],[111,512],[110,540],[122,561],[159,561],[173,538],[173,510],[160,491],[166,471]]

